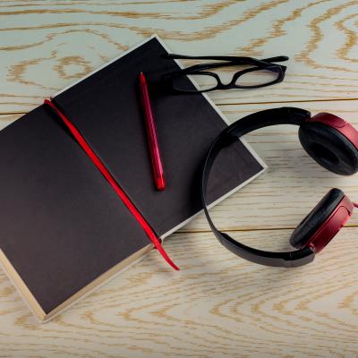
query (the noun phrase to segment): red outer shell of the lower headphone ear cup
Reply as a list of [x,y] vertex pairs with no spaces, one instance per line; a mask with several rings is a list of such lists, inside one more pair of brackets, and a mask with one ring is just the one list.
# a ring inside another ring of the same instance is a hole
[[345,226],[345,223],[351,217],[354,204],[345,195],[339,202],[337,208],[333,210],[327,220],[320,226],[320,229],[303,245],[309,247],[315,253],[324,249],[324,247],[333,239],[338,231]]

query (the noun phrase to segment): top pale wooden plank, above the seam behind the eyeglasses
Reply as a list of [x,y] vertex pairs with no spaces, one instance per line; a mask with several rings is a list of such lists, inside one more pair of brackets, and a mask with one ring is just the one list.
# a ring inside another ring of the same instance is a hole
[[36,107],[154,32],[178,53],[290,56],[285,82],[254,92],[214,93],[216,103],[358,98],[356,1],[0,5],[0,113]]

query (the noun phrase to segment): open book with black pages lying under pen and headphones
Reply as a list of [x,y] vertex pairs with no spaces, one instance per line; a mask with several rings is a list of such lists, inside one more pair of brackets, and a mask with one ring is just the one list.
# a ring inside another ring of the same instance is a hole
[[[141,71],[155,83],[180,68],[162,58],[165,53],[153,36],[53,96],[161,239],[200,212],[202,161],[228,124],[206,95],[152,96],[167,184],[164,192],[155,189],[137,84]],[[0,262],[39,321],[55,317],[153,248],[47,106],[0,132],[0,163]],[[217,158],[210,205],[264,169],[253,150],[237,141]]]

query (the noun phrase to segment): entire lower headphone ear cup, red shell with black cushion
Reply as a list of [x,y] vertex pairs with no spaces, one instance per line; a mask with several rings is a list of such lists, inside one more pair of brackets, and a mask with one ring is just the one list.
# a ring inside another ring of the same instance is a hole
[[297,249],[320,252],[351,217],[354,204],[339,189],[331,189],[294,230],[290,243]]

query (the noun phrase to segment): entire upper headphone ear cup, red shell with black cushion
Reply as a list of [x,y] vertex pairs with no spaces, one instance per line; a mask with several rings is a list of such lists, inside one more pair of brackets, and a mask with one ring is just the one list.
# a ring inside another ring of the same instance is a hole
[[300,125],[301,144],[311,158],[338,175],[358,172],[358,132],[337,115],[320,113]]

